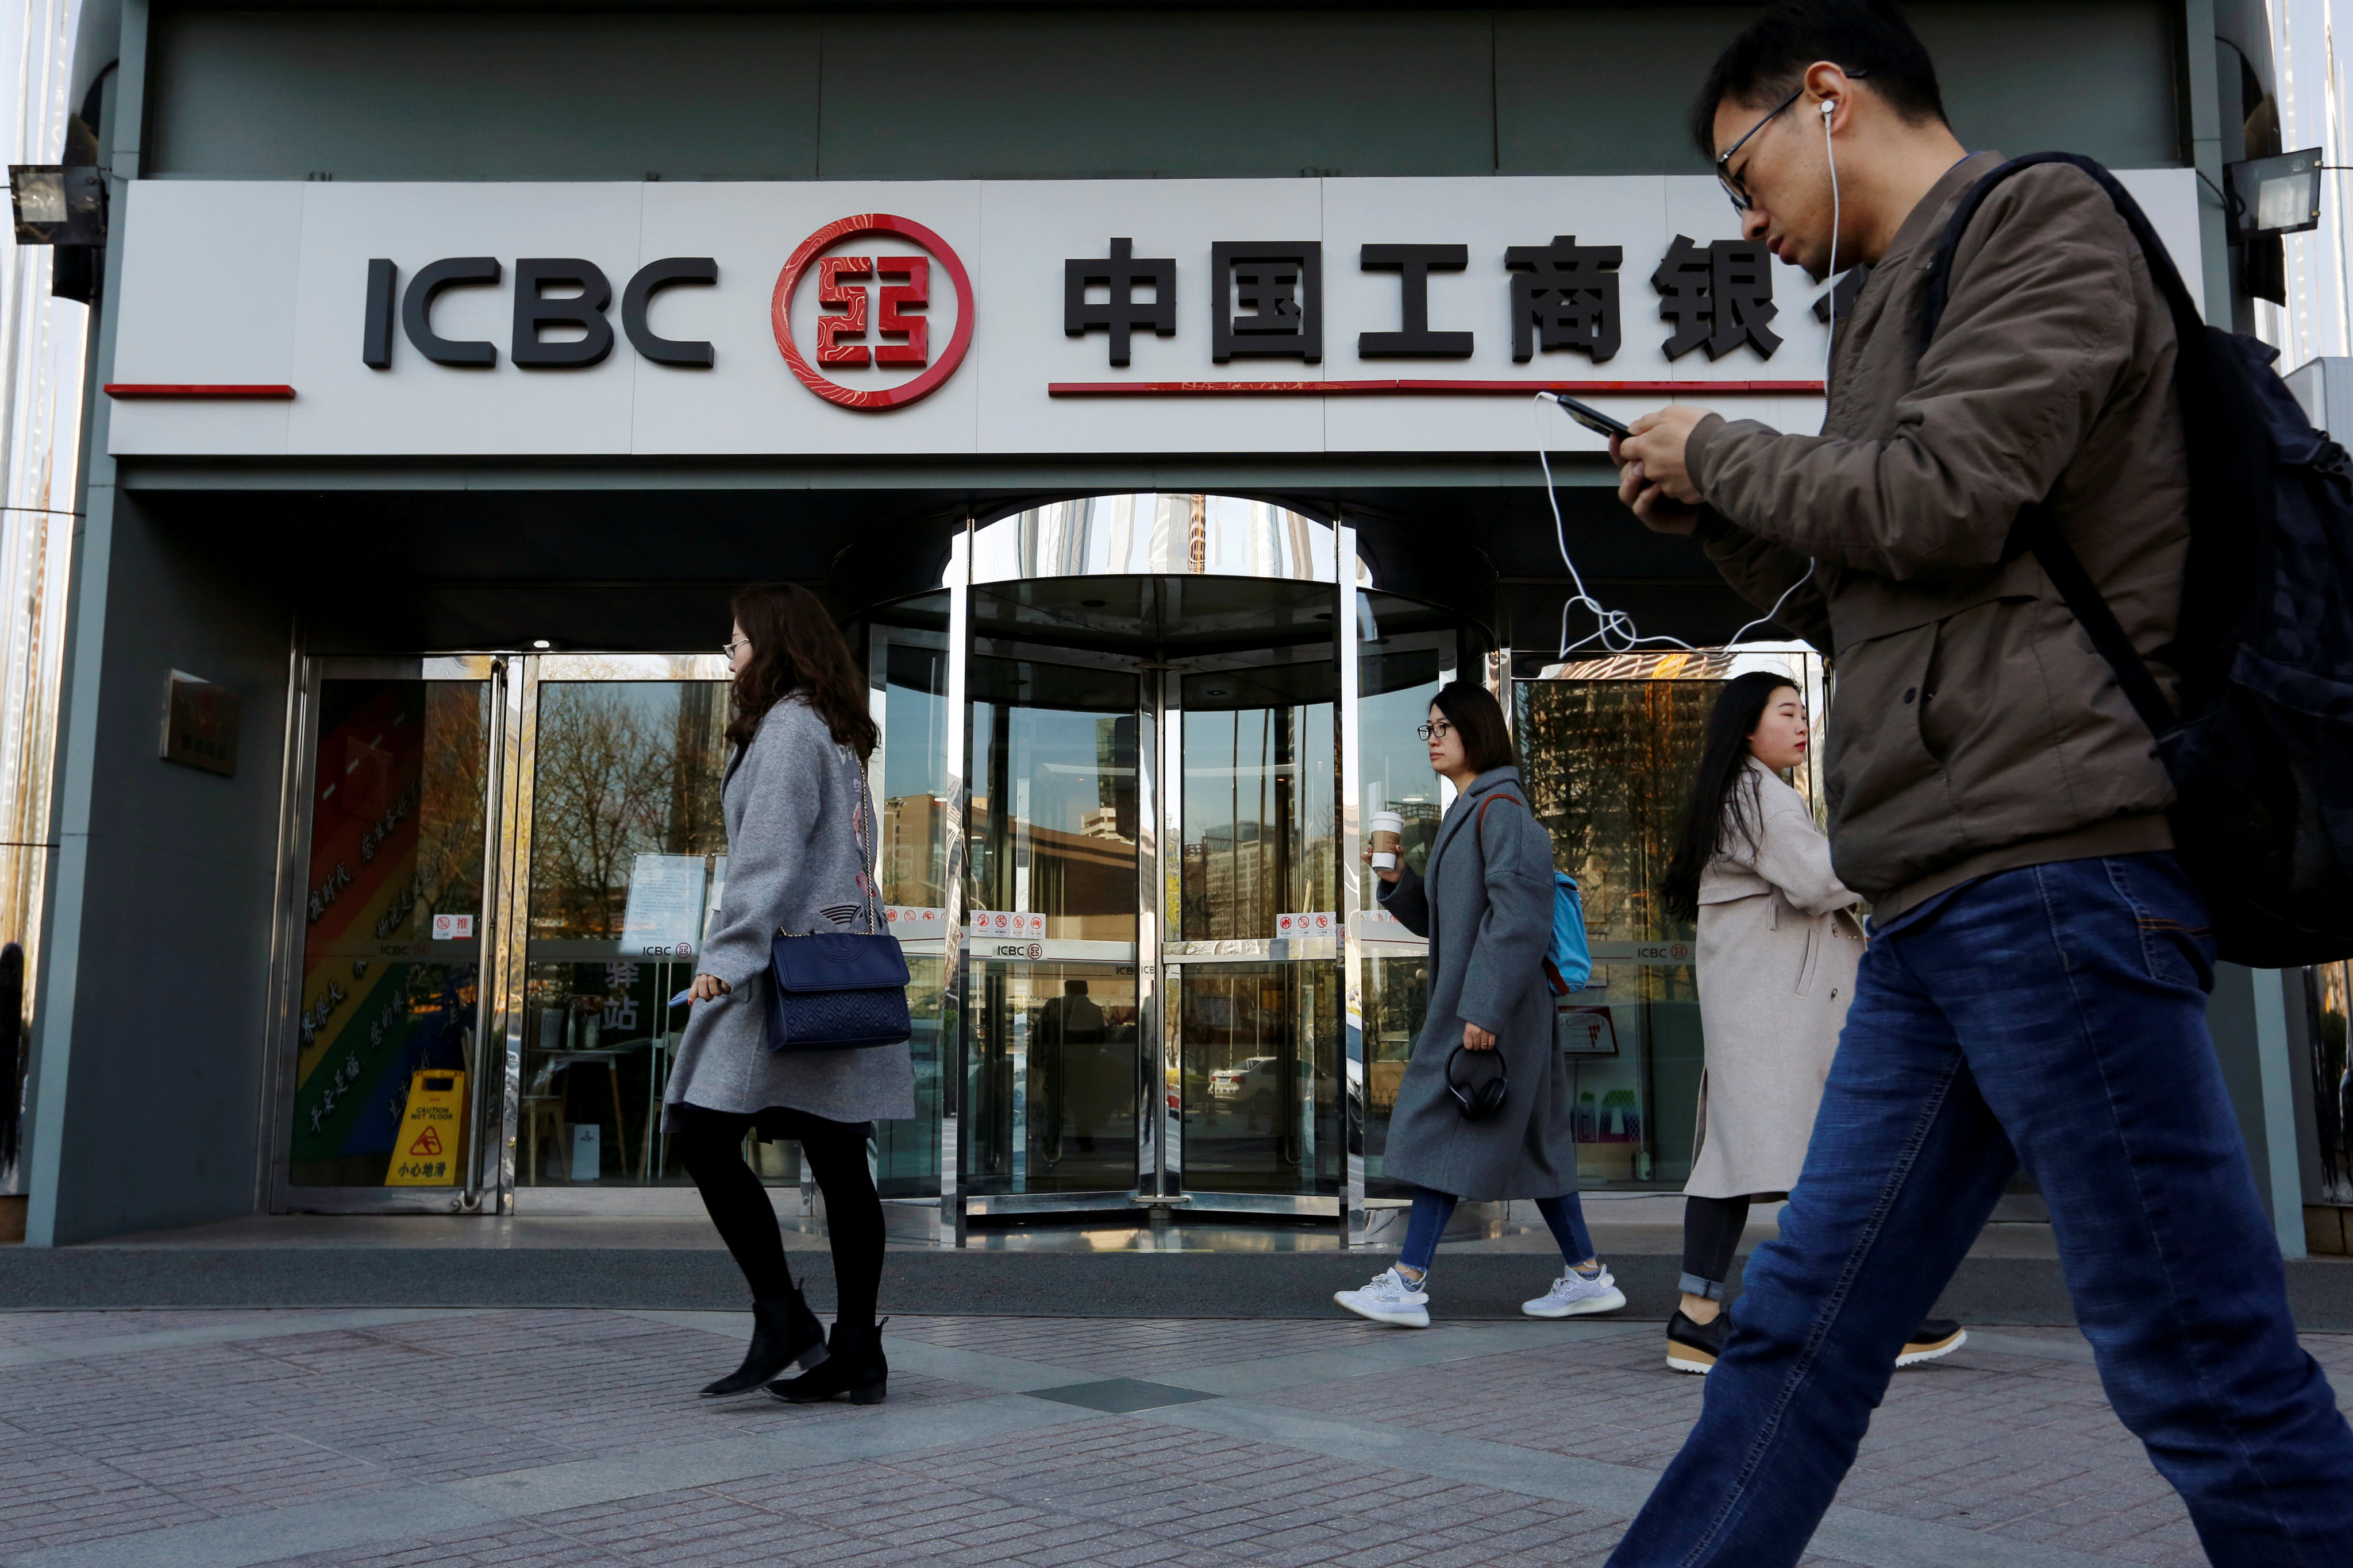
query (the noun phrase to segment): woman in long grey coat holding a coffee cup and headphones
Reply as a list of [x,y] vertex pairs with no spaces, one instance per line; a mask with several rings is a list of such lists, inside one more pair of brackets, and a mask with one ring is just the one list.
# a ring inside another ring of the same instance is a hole
[[[1414,1185],[1398,1262],[1337,1300],[1398,1328],[1431,1326],[1428,1272],[1461,1199],[1537,1199],[1560,1244],[1553,1288],[1527,1316],[1626,1305],[1593,1255],[1577,1201],[1569,1086],[1553,1044],[1544,954],[1553,943],[1553,839],[1520,795],[1504,710],[1454,682],[1421,726],[1431,769],[1454,783],[1428,872],[1384,867],[1381,905],[1431,940],[1431,1004],[1398,1084],[1384,1171]],[[1501,1084],[1501,1105],[1482,1110]],[[1475,1114],[1473,1114],[1475,1112]]]

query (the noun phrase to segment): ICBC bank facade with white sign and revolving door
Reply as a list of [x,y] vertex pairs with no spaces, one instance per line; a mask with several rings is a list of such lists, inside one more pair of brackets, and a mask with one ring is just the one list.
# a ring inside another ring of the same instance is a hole
[[[776,578],[882,729],[899,1234],[1377,1227],[1426,976],[1358,856],[1372,811],[1426,849],[1457,677],[1584,884],[1584,1180],[1680,1185],[1682,780],[1722,679],[1828,672],[1537,393],[1819,421],[1826,292],[1680,127],[1746,12],[111,16],[28,1239],[692,1213],[671,997],[727,592]],[[1972,148],[2104,158],[2245,313],[2233,14],[1915,21]],[[2292,1251],[2306,990],[2217,992]]]

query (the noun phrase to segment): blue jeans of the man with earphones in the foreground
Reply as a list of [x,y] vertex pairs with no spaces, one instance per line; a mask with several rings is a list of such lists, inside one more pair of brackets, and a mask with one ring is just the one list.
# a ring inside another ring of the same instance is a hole
[[1781,1237],[1612,1568],[1795,1563],[2019,1161],[2122,1422],[2221,1568],[2344,1563],[2353,1429],[2297,1345],[2172,856],[1977,882],[1864,952]]

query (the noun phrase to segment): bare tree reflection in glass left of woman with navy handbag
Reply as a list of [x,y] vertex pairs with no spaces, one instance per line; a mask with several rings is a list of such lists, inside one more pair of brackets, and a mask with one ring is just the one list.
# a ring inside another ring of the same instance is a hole
[[546,684],[532,783],[532,933],[616,938],[640,853],[727,849],[718,682]]

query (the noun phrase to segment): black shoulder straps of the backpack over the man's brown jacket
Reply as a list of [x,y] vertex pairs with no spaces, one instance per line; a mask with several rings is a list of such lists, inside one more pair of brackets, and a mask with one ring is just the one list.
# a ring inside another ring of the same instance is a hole
[[[2108,193],[2108,200],[2115,205],[2115,214],[2125,219],[2125,228],[2132,230],[2132,240],[2141,247],[2141,261],[2148,266],[2148,277],[2158,284],[2158,294],[2165,296],[2165,306],[2174,317],[2174,381],[2179,383],[2181,369],[2205,346],[2205,317],[2198,315],[2188,284],[2181,282],[2181,273],[2174,268],[2172,254],[2167,254],[2165,242],[2158,237],[2155,226],[2151,226],[2148,214],[2141,212],[2141,205],[2132,200],[2132,193],[2125,190],[2125,186],[2108,174],[2108,169],[2080,153],[2028,153],[2024,158],[2012,158],[2009,162],[1988,169],[1974,186],[1969,186],[1967,193],[1962,193],[1960,202],[1953,207],[1953,219],[1944,226],[1944,237],[1937,242],[1937,254],[1929,259],[1927,287],[1920,299],[1922,350],[1944,322],[1944,308],[1953,292],[1953,256],[1960,249],[1962,233],[1969,228],[1969,219],[1977,216],[1977,209],[1984,207],[1986,197],[1993,195],[1993,188],[2005,179],[2054,162],[2064,162],[2092,176],[2092,181]],[[2033,552],[2033,557],[2042,564],[2052,588],[2059,590],[2068,611],[2075,614],[2085,635],[2092,637],[2092,646],[2108,661],[2108,670],[2115,672],[2115,682],[2125,689],[2125,698],[2132,701],[2132,710],[2141,715],[2141,724],[2148,726],[2148,733],[2165,736],[2174,729],[2181,722],[2174,705],[2165,701],[2158,677],[2148,672],[2148,661],[2144,661],[2141,651],[2132,646],[2132,637],[2125,635],[2125,625],[2115,618],[2115,609],[2108,604],[2106,595],[2099,592],[2099,583],[2092,581],[2082,557],[2075,555],[2075,548],[2059,531],[2059,522],[2052,517],[2047,501],[2031,501],[2021,505],[2017,522],[2009,524],[2009,545],[2002,550],[2002,559],[2014,559],[2026,552]]]

